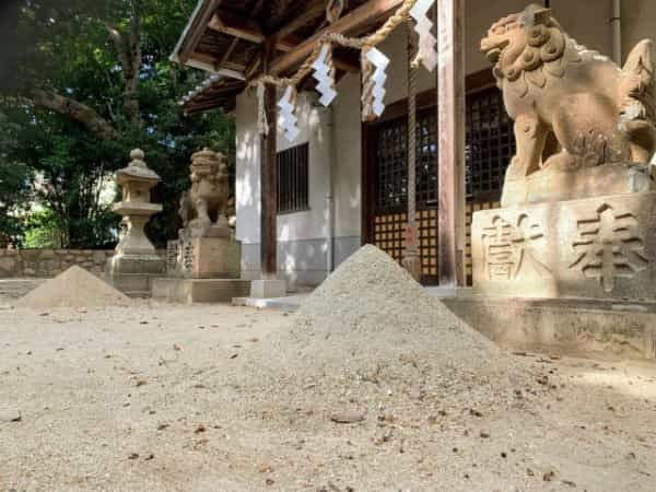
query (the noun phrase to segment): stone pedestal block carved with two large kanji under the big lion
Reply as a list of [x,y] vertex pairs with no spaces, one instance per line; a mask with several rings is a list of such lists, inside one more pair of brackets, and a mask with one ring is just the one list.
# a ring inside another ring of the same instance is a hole
[[473,288],[487,295],[656,300],[656,192],[473,214]]

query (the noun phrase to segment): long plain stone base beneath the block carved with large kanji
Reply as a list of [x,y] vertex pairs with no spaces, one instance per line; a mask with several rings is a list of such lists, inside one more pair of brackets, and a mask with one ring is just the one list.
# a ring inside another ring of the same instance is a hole
[[656,303],[487,296],[442,302],[506,350],[656,359]]

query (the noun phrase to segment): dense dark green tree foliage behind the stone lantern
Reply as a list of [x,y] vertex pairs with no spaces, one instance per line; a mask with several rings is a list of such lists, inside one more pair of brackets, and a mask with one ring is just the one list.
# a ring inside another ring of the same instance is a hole
[[[62,246],[114,241],[119,218],[103,198],[131,149],[163,178],[153,198],[164,212],[149,231],[160,244],[176,235],[191,153],[210,147],[234,162],[233,121],[221,112],[185,117],[177,105],[204,77],[168,60],[195,3],[21,0],[0,11],[0,112],[13,142],[0,140],[0,154],[52,212]],[[26,208],[30,197],[9,195],[21,187],[7,183],[0,203]]]

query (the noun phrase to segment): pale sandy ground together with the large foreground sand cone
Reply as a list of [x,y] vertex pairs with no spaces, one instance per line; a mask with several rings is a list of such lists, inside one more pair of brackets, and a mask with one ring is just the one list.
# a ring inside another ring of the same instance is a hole
[[656,490],[655,364],[504,353],[353,261],[296,314],[0,282],[0,491]]

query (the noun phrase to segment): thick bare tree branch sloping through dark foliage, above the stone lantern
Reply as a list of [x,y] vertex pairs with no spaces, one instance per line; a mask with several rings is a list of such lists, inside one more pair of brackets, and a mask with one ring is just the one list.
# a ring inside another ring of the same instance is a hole
[[116,128],[114,128],[106,119],[104,119],[91,107],[79,103],[78,101],[57,94],[54,91],[33,89],[28,93],[28,102],[31,102],[34,106],[42,106],[52,109],[54,112],[79,121],[103,140],[116,138],[118,134]]

